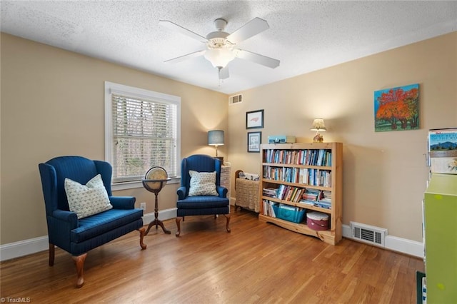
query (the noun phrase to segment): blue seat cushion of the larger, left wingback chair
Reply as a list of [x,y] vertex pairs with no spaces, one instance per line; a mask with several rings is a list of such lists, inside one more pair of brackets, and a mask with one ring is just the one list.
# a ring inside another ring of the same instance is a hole
[[141,218],[141,209],[111,209],[79,220],[78,228],[71,230],[71,242],[81,243],[98,235],[109,233],[115,228],[124,226]]

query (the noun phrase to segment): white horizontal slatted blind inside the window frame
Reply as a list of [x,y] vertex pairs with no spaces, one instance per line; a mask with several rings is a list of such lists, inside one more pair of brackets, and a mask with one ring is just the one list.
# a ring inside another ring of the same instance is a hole
[[153,166],[176,176],[176,104],[114,93],[111,100],[113,182],[139,181]]

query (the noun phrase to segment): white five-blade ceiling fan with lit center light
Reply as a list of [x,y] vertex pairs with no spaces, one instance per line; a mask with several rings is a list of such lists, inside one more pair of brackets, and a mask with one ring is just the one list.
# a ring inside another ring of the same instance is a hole
[[271,69],[279,66],[280,61],[278,59],[236,48],[236,45],[241,41],[251,38],[270,28],[268,23],[263,19],[254,18],[232,34],[224,31],[227,25],[226,20],[221,18],[216,19],[214,20],[214,25],[216,26],[217,31],[209,33],[206,37],[196,34],[194,31],[190,31],[189,29],[168,20],[160,20],[159,24],[206,44],[206,49],[204,50],[195,51],[174,59],[166,60],[165,62],[176,63],[203,55],[216,69],[218,69],[219,79],[229,78],[229,67],[227,64],[235,58],[253,61],[256,64],[268,66]]

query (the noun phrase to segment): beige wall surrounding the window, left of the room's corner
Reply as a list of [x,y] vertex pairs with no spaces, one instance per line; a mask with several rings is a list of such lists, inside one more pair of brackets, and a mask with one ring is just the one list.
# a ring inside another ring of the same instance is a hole
[[[39,163],[104,159],[104,81],[181,96],[181,156],[213,155],[206,132],[227,131],[225,94],[3,33],[1,76],[1,244],[47,234]],[[161,209],[176,206],[177,186],[161,192]],[[154,212],[154,195],[143,188],[116,195],[136,196]]]

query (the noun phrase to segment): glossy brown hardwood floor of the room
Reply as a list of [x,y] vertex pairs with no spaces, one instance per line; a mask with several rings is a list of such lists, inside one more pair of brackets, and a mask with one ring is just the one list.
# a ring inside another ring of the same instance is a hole
[[[233,208],[232,208],[233,209]],[[89,252],[84,286],[75,288],[71,256],[56,249],[0,264],[1,298],[31,303],[416,303],[423,261],[343,238],[317,238],[257,220],[250,211],[225,218],[165,221]],[[11,301],[10,301],[11,302]]]

